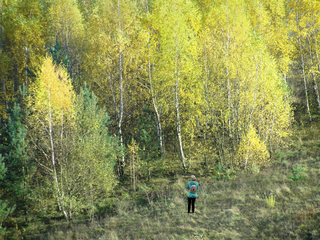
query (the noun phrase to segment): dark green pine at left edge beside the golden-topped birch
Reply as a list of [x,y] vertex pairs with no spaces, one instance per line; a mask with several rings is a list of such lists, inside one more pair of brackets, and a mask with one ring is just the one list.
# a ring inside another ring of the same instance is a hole
[[[2,176],[0,183],[1,196],[8,199],[8,207],[14,208],[15,213],[24,213],[27,220],[27,171],[28,163],[28,141],[25,140],[27,130],[21,122],[23,111],[21,111],[18,100],[9,103],[8,119],[1,123],[0,154],[4,157],[6,173]],[[24,111],[25,112],[25,111]]]

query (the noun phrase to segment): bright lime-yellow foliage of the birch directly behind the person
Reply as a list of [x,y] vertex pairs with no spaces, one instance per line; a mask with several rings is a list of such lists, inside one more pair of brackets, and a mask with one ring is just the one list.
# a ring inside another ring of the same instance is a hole
[[[181,134],[193,140],[196,119],[201,115],[200,68],[197,61],[197,33],[200,15],[192,1],[160,1],[153,10],[153,29],[158,41],[155,57],[154,91],[163,116],[164,129],[175,126],[174,92],[177,89]],[[179,75],[179,76],[178,76]],[[185,147],[189,147],[186,141]]]

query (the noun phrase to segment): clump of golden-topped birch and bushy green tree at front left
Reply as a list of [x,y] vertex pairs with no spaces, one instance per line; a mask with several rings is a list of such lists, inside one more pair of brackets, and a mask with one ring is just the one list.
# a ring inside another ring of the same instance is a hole
[[[61,202],[71,217],[93,208],[111,193],[116,184],[116,141],[108,133],[108,116],[98,110],[97,98],[89,91],[87,95],[81,91],[75,98],[66,70],[53,65],[51,58],[42,64],[33,91],[36,97],[29,131],[36,149],[43,153],[36,162],[39,171],[49,173],[43,174],[44,178],[52,176],[53,168],[61,176],[56,180]],[[50,190],[49,194],[56,197]]]

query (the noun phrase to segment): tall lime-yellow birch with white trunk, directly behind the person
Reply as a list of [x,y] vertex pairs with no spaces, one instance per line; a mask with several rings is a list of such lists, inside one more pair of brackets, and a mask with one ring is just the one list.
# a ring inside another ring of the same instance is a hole
[[[187,169],[185,163],[183,130],[181,126],[181,102],[188,104],[192,109],[193,87],[197,86],[197,65],[196,62],[196,42],[195,34],[198,29],[198,16],[196,6],[192,2],[168,2],[158,3],[156,10],[157,27],[160,37],[160,54],[158,66],[164,73],[162,74],[162,88],[170,96],[169,108],[175,113],[175,132],[180,153],[180,161],[183,169]],[[166,21],[163,21],[166,19]],[[193,61],[194,60],[194,61]],[[191,66],[195,67],[192,68]],[[169,95],[170,94],[170,95]],[[191,95],[190,95],[191,94]],[[189,114],[184,113],[183,118]],[[187,122],[187,121],[186,121]],[[191,136],[190,136],[191,137]],[[192,137],[191,137],[192,138]]]

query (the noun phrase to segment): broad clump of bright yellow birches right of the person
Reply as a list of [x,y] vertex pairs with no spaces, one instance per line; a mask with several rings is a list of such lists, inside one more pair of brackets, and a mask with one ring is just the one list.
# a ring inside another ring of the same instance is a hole
[[290,108],[278,73],[284,67],[273,60],[265,41],[275,12],[280,12],[277,18],[283,12],[268,7],[263,2],[217,1],[201,28],[204,111],[198,120],[221,163],[229,167],[266,164],[271,146],[288,126]]

